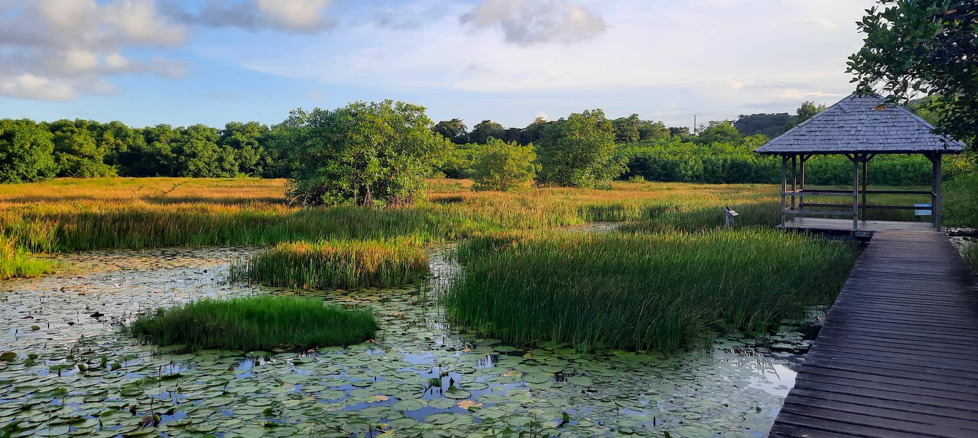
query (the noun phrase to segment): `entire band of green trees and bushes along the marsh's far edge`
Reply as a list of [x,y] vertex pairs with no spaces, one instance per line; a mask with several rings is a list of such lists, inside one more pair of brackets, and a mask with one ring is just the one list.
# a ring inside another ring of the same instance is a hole
[[[401,205],[423,197],[425,178],[472,178],[476,190],[534,185],[606,188],[614,179],[771,183],[777,160],[753,153],[824,107],[806,102],[791,116],[752,114],[667,127],[638,114],[609,119],[584,110],[524,128],[491,120],[470,131],[459,118],[435,123],[403,102],[355,102],[335,110],[293,110],[283,122],[132,128],[91,120],[0,120],[0,182],[52,177],[168,176],[289,178],[289,199],[306,204]],[[926,114],[925,114],[926,115]],[[933,115],[933,114],[930,114]],[[814,160],[814,184],[847,184],[845,162]],[[928,184],[926,163],[880,157],[874,183]],[[953,177],[967,158],[947,166]]]

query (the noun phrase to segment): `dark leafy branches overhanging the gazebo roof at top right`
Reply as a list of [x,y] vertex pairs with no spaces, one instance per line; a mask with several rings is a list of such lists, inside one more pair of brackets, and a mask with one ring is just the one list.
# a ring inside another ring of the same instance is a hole
[[877,0],[858,22],[864,47],[849,58],[862,94],[908,104],[934,99],[939,133],[978,143],[978,3],[974,0]]

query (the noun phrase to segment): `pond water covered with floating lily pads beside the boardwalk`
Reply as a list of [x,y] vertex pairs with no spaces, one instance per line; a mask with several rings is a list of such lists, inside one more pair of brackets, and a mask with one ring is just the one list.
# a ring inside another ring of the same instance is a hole
[[[0,362],[0,427],[96,437],[766,436],[811,344],[795,325],[669,354],[514,348],[449,326],[418,287],[229,283],[230,260],[261,249],[79,252],[60,259],[84,274],[0,282],[0,353],[17,353]],[[458,269],[448,251],[430,249],[436,282]],[[119,328],[140,311],[251,294],[370,308],[377,339],[177,354]]]

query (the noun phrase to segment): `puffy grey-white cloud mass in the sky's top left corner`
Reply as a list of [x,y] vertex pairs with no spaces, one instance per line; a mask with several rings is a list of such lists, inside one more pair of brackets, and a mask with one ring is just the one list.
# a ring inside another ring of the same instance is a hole
[[[187,28],[169,22],[153,0],[8,1],[0,15],[0,95],[66,100],[108,94],[108,76],[150,73],[182,76],[181,63],[156,56],[126,58],[130,47],[184,44]],[[13,12],[11,12],[13,11]]]

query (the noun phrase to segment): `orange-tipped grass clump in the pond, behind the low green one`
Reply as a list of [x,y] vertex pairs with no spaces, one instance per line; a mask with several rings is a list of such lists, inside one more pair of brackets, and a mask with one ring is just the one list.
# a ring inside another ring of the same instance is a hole
[[415,283],[428,258],[414,241],[295,241],[233,262],[231,279],[276,287],[345,289]]

